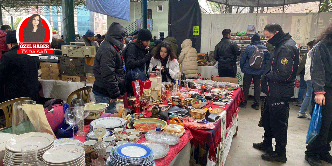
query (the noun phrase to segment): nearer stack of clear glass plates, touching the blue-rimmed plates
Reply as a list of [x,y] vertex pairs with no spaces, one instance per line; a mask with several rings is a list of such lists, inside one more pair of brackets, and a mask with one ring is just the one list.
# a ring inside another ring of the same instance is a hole
[[165,141],[149,141],[145,140],[141,144],[149,146],[154,154],[154,159],[160,159],[167,156],[169,145]]

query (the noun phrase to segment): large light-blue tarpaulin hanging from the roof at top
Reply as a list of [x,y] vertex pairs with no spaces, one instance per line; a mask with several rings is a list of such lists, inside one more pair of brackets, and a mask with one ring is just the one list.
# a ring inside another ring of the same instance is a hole
[[130,0],[86,0],[86,9],[130,21]]

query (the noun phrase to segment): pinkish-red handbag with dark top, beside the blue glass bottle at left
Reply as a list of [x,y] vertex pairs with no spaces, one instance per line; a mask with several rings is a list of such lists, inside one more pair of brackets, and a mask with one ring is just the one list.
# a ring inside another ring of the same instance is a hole
[[63,100],[61,99],[51,99],[44,104],[46,119],[53,132],[62,124],[64,119],[62,104]]

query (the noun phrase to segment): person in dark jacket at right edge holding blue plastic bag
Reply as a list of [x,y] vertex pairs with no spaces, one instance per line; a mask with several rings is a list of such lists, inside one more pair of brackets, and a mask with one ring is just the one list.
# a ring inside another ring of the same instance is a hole
[[304,158],[311,166],[322,166],[320,160],[332,164],[329,153],[332,141],[332,24],[319,35],[311,53],[310,74],[315,102],[322,106],[322,122],[319,134],[307,145]]

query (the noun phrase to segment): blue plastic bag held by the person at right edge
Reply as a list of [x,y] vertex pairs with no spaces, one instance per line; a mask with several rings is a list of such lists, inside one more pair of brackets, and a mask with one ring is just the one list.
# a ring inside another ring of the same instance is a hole
[[316,103],[315,109],[312,111],[311,121],[307,133],[306,144],[314,141],[319,134],[320,127],[322,125],[322,106]]

